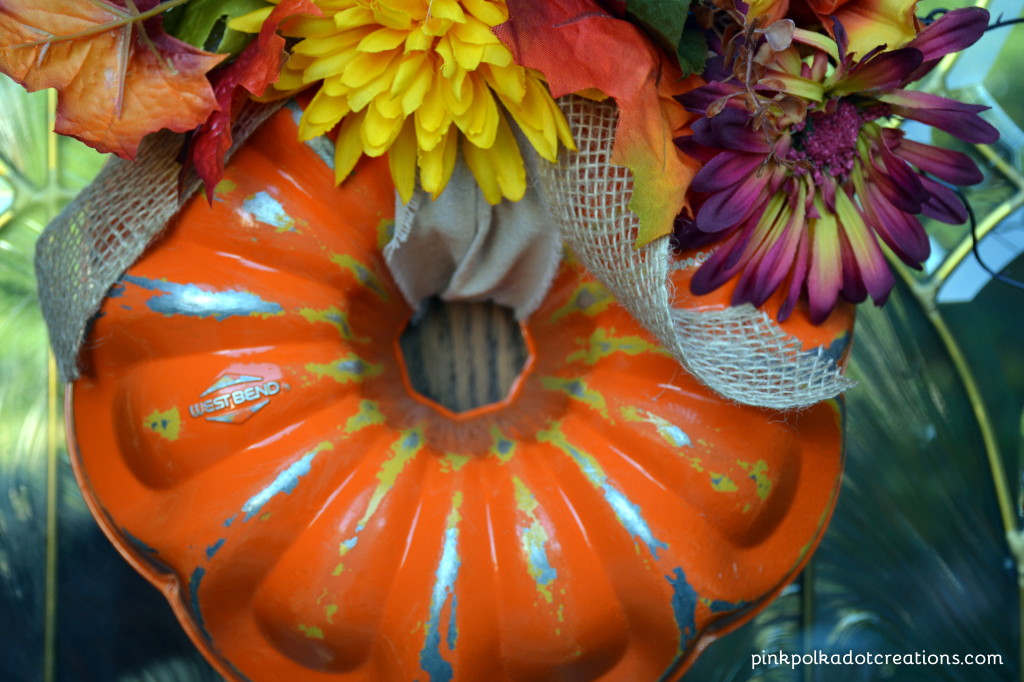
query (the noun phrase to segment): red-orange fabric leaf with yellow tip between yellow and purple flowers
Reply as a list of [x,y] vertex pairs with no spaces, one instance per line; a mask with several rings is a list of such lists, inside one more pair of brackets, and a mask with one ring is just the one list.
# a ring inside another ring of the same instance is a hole
[[633,24],[622,2],[508,0],[496,28],[518,63],[544,74],[561,96],[596,88],[618,106],[611,163],[633,173],[630,208],[640,217],[638,246],[672,231],[697,170],[673,143],[692,118],[673,95],[703,82],[678,68]]

